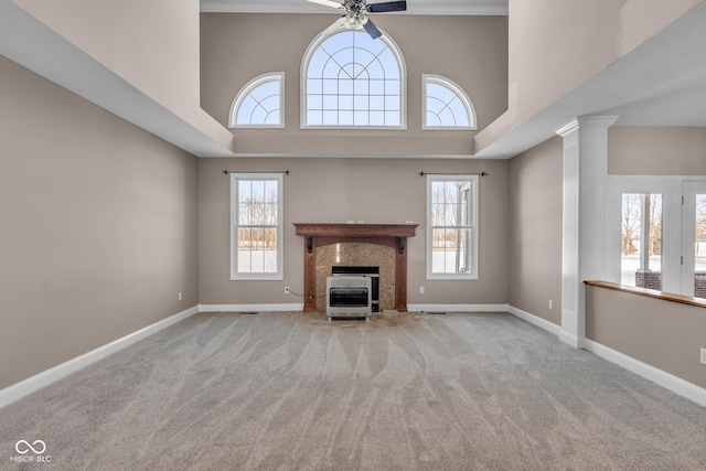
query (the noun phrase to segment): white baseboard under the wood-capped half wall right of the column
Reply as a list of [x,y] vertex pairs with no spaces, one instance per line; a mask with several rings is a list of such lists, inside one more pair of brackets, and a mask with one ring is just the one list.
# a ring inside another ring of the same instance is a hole
[[620,353],[592,340],[586,339],[584,341],[584,347],[601,358],[622,366],[645,379],[650,379],[651,382],[656,383],[680,396],[686,397],[687,399],[706,407],[706,389],[703,387],[696,386],[693,383],[684,381],[660,368],[655,368],[652,365],[643,363],[632,356],[628,356],[624,353]]

